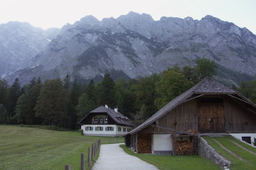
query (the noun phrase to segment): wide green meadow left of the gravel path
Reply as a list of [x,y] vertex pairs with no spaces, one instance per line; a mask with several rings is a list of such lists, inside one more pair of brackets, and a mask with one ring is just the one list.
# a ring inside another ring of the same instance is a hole
[[[80,169],[80,156],[88,146],[101,139],[101,144],[123,143],[123,137],[82,136],[76,131],[52,131],[38,128],[0,125],[0,169]],[[99,155],[99,152],[98,152]],[[86,167],[89,169],[90,167]]]

